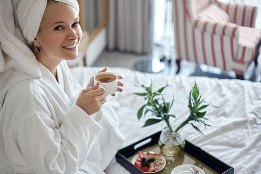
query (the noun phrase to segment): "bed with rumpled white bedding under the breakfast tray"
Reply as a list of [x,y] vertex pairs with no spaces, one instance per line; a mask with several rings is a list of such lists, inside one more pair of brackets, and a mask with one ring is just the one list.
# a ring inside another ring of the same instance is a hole
[[[86,86],[89,78],[98,72],[99,67],[77,67],[71,72],[78,82]],[[208,153],[232,166],[234,174],[261,174],[261,84],[241,80],[219,80],[207,77],[182,77],[147,74],[125,68],[109,68],[109,71],[122,75],[124,92],[116,97],[107,97],[107,102],[118,102],[120,130],[126,137],[122,147],[134,143],[160,130],[160,123],[142,128],[144,120],[138,121],[136,113],[144,100],[133,94],[142,91],[136,85],[149,85],[153,81],[156,90],[168,84],[164,90],[166,100],[174,95],[171,113],[176,121],[184,121],[189,110],[187,96],[195,81],[206,101],[217,106],[207,108],[206,117],[213,121],[207,129],[202,128],[202,136],[190,125],[183,128],[187,140]],[[106,173],[123,174],[125,170],[113,161]],[[126,172],[127,173],[127,172]]]

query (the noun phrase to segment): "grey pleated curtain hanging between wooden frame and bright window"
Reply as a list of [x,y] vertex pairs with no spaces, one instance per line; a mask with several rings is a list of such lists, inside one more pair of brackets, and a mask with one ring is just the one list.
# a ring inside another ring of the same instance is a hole
[[154,0],[108,0],[108,49],[151,54]]

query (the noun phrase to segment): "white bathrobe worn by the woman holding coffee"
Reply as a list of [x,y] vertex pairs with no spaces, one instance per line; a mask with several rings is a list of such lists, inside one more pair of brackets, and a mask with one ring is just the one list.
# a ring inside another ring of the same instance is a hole
[[[117,102],[88,115],[75,103],[81,87],[65,61],[58,82],[10,70],[0,112],[0,174],[102,174],[120,147]],[[110,97],[110,96],[109,96]],[[108,98],[108,97],[107,97]]]

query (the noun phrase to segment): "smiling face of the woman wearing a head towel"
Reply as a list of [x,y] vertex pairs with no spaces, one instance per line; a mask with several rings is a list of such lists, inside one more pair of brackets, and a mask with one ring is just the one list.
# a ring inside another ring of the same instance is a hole
[[40,46],[36,57],[49,62],[75,59],[81,37],[76,9],[67,4],[48,3],[33,42],[35,46]]

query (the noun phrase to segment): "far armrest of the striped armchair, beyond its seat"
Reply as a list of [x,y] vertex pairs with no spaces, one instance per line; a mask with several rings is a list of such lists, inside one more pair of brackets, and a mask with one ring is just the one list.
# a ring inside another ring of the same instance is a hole
[[231,23],[240,26],[255,27],[257,7],[223,3],[218,0],[214,0],[214,3],[227,12]]

